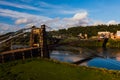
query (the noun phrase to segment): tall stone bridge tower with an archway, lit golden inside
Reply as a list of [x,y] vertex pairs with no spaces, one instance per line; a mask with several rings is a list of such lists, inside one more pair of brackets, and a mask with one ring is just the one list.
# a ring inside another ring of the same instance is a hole
[[47,46],[47,35],[45,25],[41,25],[41,28],[32,27],[30,35],[30,46],[40,47],[40,56],[43,58],[50,58],[48,46]]

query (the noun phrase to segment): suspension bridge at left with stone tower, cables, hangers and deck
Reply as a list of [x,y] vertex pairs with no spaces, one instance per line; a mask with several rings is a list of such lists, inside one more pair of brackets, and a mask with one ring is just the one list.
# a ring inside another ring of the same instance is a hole
[[[30,34],[28,34],[28,32]],[[21,38],[21,43],[29,43],[27,47],[13,49],[13,44]],[[28,39],[29,38],[29,39]],[[32,57],[50,58],[47,45],[46,25],[40,28],[32,26],[31,28],[20,29],[16,32],[0,36],[0,63]]]

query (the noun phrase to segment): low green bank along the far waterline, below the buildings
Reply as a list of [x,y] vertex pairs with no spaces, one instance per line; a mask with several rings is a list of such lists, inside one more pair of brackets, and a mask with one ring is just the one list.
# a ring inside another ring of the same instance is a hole
[[[103,40],[98,41],[97,39],[83,39],[78,38],[63,39],[60,42],[61,45],[70,45],[75,47],[102,47]],[[106,47],[109,48],[120,48],[120,40],[109,39]]]

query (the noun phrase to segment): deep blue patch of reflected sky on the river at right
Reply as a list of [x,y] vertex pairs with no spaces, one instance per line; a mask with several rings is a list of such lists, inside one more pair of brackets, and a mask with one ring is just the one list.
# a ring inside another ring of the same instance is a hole
[[120,62],[114,59],[94,58],[88,62],[88,66],[120,70]]

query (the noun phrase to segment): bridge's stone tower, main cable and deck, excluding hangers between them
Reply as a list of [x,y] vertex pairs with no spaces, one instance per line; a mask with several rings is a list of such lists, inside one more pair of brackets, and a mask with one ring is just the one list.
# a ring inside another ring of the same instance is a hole
[[29,36],[29,47],[0,52],[0,63],[17,59],[25,60],[25,58],[32,58],[37,56],[41,58],[50,58],[47,45],[46,25],[41,25],[40,28],[32,26],[32,28],[18,30],[12,34],[12,36],[9,36],[7,39],[0,41],[0,45],[3,45],[9,41],[12,41],[14,38],[19,37],[20,35],[23,35],[28,29],[31,30]]

